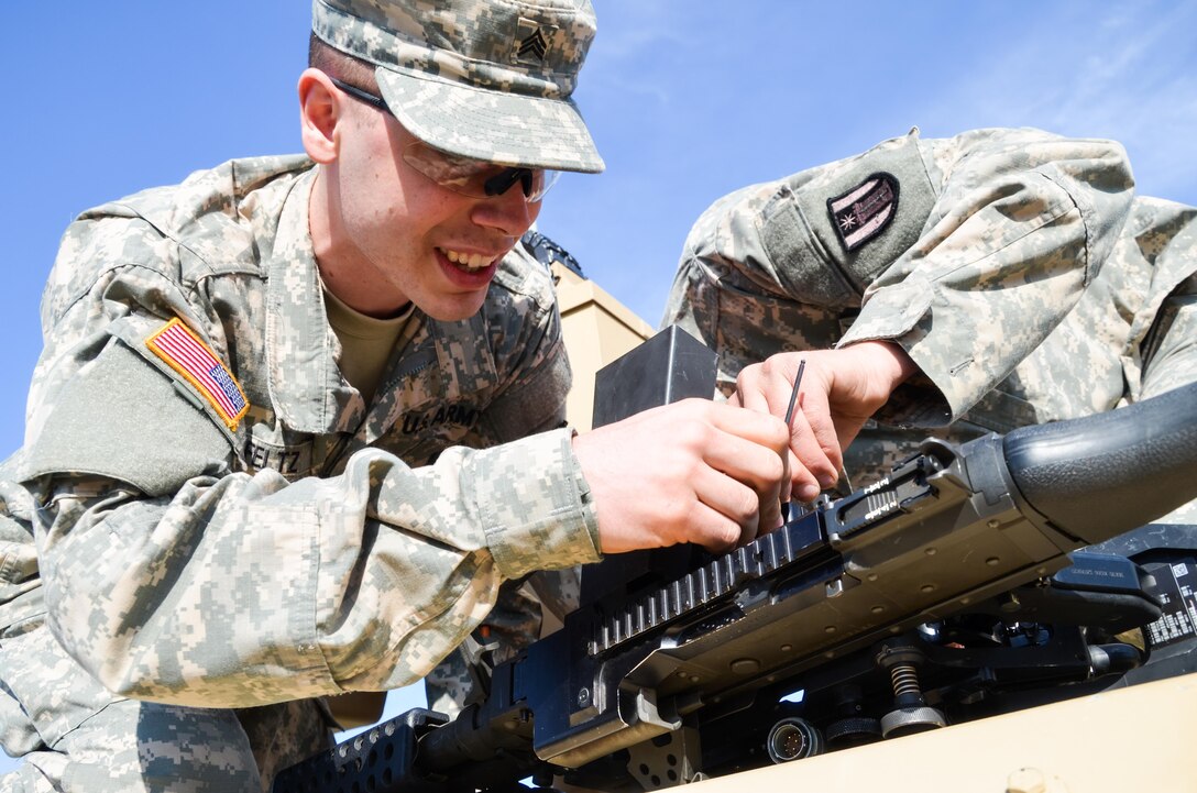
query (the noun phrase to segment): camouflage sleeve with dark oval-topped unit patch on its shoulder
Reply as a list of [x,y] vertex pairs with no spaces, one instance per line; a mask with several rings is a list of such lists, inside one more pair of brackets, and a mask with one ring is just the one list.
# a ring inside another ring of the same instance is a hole
[[736,366],[895,341],[922,376],[879,419],[946,425],[1076,304],[1131,187],[1111,141],[912,133],[717,202],[687,240],[666,321],[728,348]]

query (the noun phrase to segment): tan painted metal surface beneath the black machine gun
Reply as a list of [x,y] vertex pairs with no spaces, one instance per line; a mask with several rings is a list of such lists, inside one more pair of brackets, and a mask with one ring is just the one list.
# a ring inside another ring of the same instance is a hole
[[693,793],[1197,791],[1197,673],[697,782]]

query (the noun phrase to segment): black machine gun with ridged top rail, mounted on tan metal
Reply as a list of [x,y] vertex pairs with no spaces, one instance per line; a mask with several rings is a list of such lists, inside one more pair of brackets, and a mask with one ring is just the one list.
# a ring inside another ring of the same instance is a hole
[[584,584],[480,704],[411,710],[274,789],[655,789],[1193,671],[1191,594],[1160,593],[1192,584],[1197,527],[1124,535],[1193,498],[1197,385],[929,440],[729,554],[606,560],[603,594]]

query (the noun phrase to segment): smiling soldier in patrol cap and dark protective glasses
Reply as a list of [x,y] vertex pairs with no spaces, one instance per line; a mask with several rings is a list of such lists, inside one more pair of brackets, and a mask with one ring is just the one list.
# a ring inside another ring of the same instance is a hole
[[66,231],[0,484],[0,789],[268,788],[329,745],[320,697],[427,675],[504,581],[778,524],[776,417],[563,426],[519,239],[602,169],[594,32],[587,0],[315,0],[306,157]]

